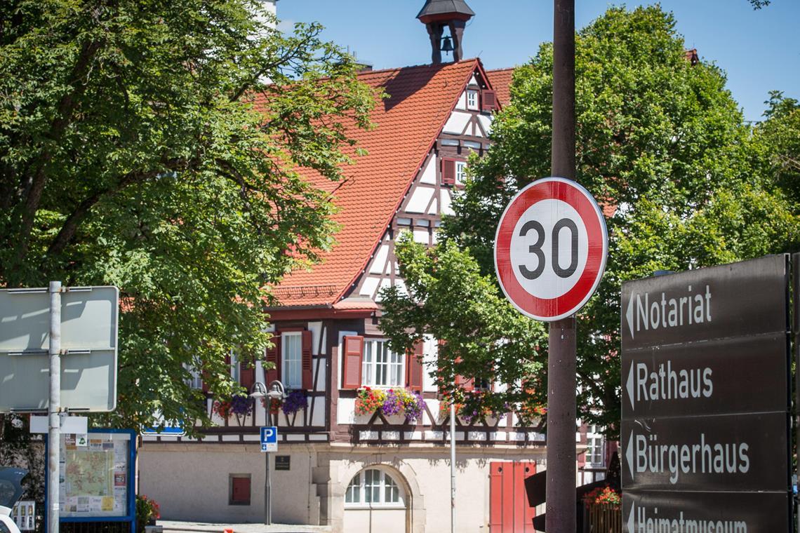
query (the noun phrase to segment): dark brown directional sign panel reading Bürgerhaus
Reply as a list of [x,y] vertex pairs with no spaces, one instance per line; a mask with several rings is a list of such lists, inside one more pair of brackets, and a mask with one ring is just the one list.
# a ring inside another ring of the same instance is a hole
[[622,487],[782,491],[789,487],[786,413],[622,421]]

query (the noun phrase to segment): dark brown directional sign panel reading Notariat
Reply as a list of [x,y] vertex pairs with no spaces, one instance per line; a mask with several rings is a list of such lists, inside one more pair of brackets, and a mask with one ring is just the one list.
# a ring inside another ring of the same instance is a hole
[[786,332],[789,256],[622,285],[622,350]]

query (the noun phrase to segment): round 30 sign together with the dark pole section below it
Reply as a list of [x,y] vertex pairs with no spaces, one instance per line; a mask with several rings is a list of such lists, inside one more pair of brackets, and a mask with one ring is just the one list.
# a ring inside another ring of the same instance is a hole
[[550,322],[547,362],[546,529],[574,531],[575,319],[606,268],[597,201],[575,181],[546,177],[511,199],[494,238],[502,291],[526,316]]

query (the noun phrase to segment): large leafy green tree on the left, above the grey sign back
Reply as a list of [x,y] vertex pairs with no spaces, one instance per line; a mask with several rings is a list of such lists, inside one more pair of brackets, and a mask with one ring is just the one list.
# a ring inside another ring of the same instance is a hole
[[266,287],[331,244],[293,169],[338,180],[374,99],[320,26],[274,22],[257,0],[0,7],[0,286],[121,289],[106,423],[205,420],[187,368],[236,392],[223,356],[269,343]]

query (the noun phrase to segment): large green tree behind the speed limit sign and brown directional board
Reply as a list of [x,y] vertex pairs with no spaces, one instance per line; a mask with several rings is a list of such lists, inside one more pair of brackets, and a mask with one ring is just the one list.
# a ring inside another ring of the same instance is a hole
[[[545,43],[515,70],[493,148],[470,161],[473,178],[444,225],[444,241],[468,250],[486,280],[502,210],[550,175],[552,62]],[[622,281],[784,251],[798,242],[798,223],[724,74],[686,61],[674,18],[658,6],[612,8],[578,33],[576,114],[578,181],[603,205],[610,240],[606,274],[578,312],[578,411],[613,435]]]

